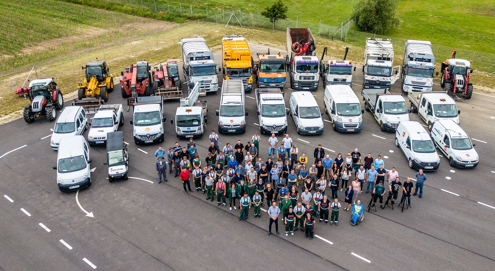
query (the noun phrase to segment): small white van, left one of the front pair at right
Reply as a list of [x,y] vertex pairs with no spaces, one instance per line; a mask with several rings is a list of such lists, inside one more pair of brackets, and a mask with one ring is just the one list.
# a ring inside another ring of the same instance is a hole
[[403,121],[396,131],[396,146],[405,154],[411,169],[437,170],[440,157],[433,142],[417,121]]

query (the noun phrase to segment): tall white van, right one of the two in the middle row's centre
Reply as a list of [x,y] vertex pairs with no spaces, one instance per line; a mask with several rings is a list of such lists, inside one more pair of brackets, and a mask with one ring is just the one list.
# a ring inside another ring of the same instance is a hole
[[350,86],[326,86],[324,104],[325,112],[333,123],[334,131],[361,131],[364,109],[361,109],[360,101]]

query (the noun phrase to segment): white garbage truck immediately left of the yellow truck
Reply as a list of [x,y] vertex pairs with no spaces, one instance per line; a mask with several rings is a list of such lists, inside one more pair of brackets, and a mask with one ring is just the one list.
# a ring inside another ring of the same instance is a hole
[[202,82],[200,88],[206,92],[218,90],[218,78],[213,53],[203,38],[182,39],[182,68],[192,90],[196,82]]

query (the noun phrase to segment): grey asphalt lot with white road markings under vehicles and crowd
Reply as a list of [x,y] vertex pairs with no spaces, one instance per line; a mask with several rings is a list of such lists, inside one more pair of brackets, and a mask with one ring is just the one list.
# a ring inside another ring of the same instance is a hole
[[[251,45],[251,50],[255,54],[266,51],[266,47]],[[270,50],[277,52],[276,48]],[[215,53],[218,59],[219,54]],[[353,76],[352,88],[361,98],[360,67]],[[221,86],[221,76],[219,80]],[[107,104],[126,105],[119,89],[115,85]],[[434,90],[441,88],[434,85]],[[286,87],[284,91],[289,108],[293,90]],[[400,80],[392,92],[400,93]],[[320,83],[313,94],[321,111],[323,93]],[[246,133],[219,134],[220,147],[226,142],[235,144],[238,139],[246,144],[259,131],[254,91],[246,96]],[[209,146],[209,131],[218,130],[215,111],[220,92],[203,99],[208,102],[208,133],[195,138],[202,159]],[[305,239],[300,231],[286,237],[281,223],[280,235],[267,236],[266,213],[253,218],[251,211],[247,221],[238,221],[239,209],[216,207],[198,192],[183,194],[179,179],[168,173],[168,182],[158,184],[153,153],[159,144],[134,144],[129,124],[132,109],[124,112],[125,125],[119,129],[130,143],[129,180],[109,183],[105,179],[107,166],[103,165],[106,149],[95,146],[90,149],[93,185],[77,193],[57,189],[52,169],[56,152],[49,146],[53,123],[45,118],[32,124],[15,120],[0,126],[0,270],[275,270],[294,269],[295,263],[297,268],[314,270],[492,270],[494,102],[495,96],[476,90],[470,100],[456,101],[461,110],[460,125],[476,143],[480,156],[477,168],[452,168],[441,157],[439,170],[426,173],[423,198],[411,198],[413,208],[403,213],[397,208],[365,212],[358,226],[351,226],[349,212],[341,209],[339,226],[317,222],[318,237],[313,240]],[[175,141],[183,146],[187,142],[177,140],[169,121],[178,105],[178,100],[165,103],[166,136],[161,145],[166,150]],[[409,116],[425,124],[417,114]],[[409,169],[394,144],[395,134],[381,132],[371,113],[364,113],[359,133],[335,132],[328,116],[323,117],[322,135],[297,135],[294,121],[288,116],[287,133],[299,154],[306,152],[310,162],[318,144],[331,158],[358,148],[363,155],[382,155],[385,168],[396,167],[401,181],[414,178],[416,171]],[[260,156],[264,160],[268,157],[268,136],[261,135]],[[370,194],[363,194],[361,199],[366,206]],[[266,205],[262,208],[267,209]]]

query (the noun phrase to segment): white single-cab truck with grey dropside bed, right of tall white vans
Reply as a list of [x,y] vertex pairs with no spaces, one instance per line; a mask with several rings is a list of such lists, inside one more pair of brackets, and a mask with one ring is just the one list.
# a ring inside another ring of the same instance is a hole
[[396,131],[401,121],[408,121],[409,114],[401,94],[392,94],[387,89],[363,89],[364,109],[373,114],[380,130]]

